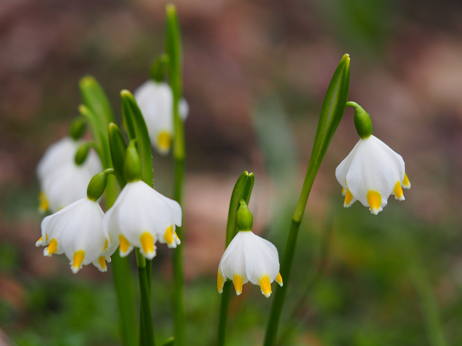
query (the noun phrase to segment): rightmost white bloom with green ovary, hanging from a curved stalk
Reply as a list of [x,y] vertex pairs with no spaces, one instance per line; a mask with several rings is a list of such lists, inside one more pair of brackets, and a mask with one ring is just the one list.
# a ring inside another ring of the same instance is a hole
[[354,124],[361,139],[335,169],[335,177],[342,186],[344,207],[359,200],[377,215],[391,194],[403,201],[402,188],[409,189],[411,184],[401,155],[372,135],[369,114],[355,102],[348,102],[347,106],[355,108]]

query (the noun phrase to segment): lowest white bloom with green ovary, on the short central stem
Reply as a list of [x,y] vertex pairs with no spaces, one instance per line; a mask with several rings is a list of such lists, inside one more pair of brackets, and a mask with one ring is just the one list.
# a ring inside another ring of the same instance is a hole
[[253,216],[243,200],[236,213],[239,232],[221,257],[218,266],[217,288],[223,292],[226,278],[233,281],[236,294],[242,293],[242,285],[251,282],[259,285],[265,297],[271,295],[271,283],[282,286],[279,273],[279,255],[276,247],[252,232]]

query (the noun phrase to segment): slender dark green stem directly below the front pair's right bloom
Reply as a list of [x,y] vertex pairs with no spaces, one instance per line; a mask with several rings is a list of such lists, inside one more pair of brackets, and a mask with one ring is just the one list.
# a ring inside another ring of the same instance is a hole
[[154,326],[152,325],[151,298],[146,276],[146,259],[140,254],[140,249],[136,248],[135,252],[141,296],[140,346],[154,346]]

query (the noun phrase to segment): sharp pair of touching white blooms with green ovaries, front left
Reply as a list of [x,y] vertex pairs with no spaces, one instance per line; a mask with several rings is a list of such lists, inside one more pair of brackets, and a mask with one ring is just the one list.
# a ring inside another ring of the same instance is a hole
[[128,146],[126,163],[128,183],[105,214],[97,201],[106,187],[107,174],[114,172],[112,168],[91,179],[86,197],[43,219],[42,237],[36,246],[47,246],[45,256],[64,253],[75,274],[90,263],[106,271],[106,261],[110,262],[117,247],[122,257],[136,246],[152,259],[157,241],[173,248],[180,244],[175,228],[181,226],[181,207],[140,180],[134,141]]

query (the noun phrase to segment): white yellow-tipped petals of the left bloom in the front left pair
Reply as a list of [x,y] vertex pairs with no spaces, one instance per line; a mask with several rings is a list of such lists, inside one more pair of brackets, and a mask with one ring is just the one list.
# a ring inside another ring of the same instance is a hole
[[36,246],[48,245],[45,256],[64,253],[74,274],[90,263],[104,272],[116,247],[104,235],[103,217],[97,201],[81,198],[43,219],[42,237]]

